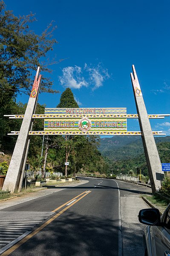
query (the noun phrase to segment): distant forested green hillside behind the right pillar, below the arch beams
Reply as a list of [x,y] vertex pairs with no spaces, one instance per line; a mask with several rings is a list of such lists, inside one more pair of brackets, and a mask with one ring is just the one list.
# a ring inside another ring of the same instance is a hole
[[[115,138],[113,139],[113,141],[114,140]],[[161,162],[169,163],[170,162],[170,136],[157,137],[155,138],[155,140],[157,142],[156,145],[158,148],[158,153],[159,153]],[[144,149],[143,149],[141,139],[131,141],[131,143],[127,145],[125,144],[128,142],[128,140],[125,140],[124,143],[122,141],[123,141],[123,138],[121,138],[121,143],[120,143],[121,145],[120,145],[118,143],[118,138],[117,138],[116,144],[118,144],[119,146],[116,148],[114,145],[114,150],[107,149],[107,151],[105,151],[105,157],[110,167],[109,171],[111,171],[112,174],[120,174],[120,173],[136,174],[136,169],[140,168],[141,174],[144,174],[144,176],[147,176],[148,175],[147,164],[144,156]],[[106,144],[104,147],[107,148]],[[126,150],[126,153],[124,153],[125,150]],[[139,153],[139,151],[142,153]],[[106,152],[109,152],[109,156],[107,156]],[[126,157],[124,157],[124,154]]]

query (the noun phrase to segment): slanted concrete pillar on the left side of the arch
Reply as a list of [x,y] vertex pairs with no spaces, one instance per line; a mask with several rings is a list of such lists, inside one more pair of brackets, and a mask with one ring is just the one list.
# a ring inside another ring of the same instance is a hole
[[[20,128],[20,133],[15,144],[9,169],[6,174],[6,179],[3,184],[3,190],[14,192],[18,189],[20,184],[20,177],[23,170],[24,159],[26,156],[26,148],[29,140],[29,130],[32,125],[32,115],[35,112],[38,92],[40,88],[41,75],[39,76],[40,67],[37,68],[32,91],[29,97],[29,102],[26,107],[26,112]],[[38,77],[39,76],[39,77]]]

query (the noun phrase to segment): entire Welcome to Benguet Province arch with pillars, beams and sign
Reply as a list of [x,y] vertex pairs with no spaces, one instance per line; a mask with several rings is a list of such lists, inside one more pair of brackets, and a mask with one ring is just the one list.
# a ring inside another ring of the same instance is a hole
[[[169,114],[147,114],[134,65],[132,68],[133,73],[130,76],[138,114],[127,114],[126,108],[48,108],[45,109],[44,115],[35,115],[41,80],[40,67],[38,67],[25,114],[6,115],[9,118],[22,118],[23,122],[20,131],[12,131],[8,134],[18,135],[18,138],[3,190],[14,192],[19,188],[25,169],[30,135],[141,135],[152,191],[157,191],[161,187],[158,176],[164,174],[153,135],[166,134],[161,131],[152,131],[149,119],[164,118]],[[32,131],[32,122],[35,118],[44,119],[43,131]],[[128,132],[128,118],[138,118],[141,131]]]

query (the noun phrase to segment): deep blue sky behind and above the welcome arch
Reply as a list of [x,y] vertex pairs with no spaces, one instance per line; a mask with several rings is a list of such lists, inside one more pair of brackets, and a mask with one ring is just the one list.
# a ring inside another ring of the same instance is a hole
[[[170,113],[169,0],[5,3],[14,15],[35,13],[37,34],[55,21],[59,43],[49,57],[65,60],[51,66],[53,88],[62,93],[70,87],[80,107],[126,107],[128,114],[137,113],[130,79],[134,64],[148,114]],[[42,93],[38,101],[56,107],[60,97]],[[25,103],[28,97],[18,100]],[[170,117],[150,122],[153,130],[170,135]],[[139,130],[138,121],[127,120],[127,129]]]

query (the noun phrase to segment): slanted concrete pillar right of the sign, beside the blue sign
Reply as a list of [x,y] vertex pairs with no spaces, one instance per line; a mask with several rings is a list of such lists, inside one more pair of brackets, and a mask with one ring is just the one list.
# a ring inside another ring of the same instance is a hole
[[144,104],[141,88],[136,75],[135,67],[133,68],[133,74],[131,73],[131,80],[133,85],[133,93],[135,97],[136,109],[138,112],[138,120],[141,128],[141,138],[144,145],[144,153],[147,161],[147,168],[150,177],[150,184],[153,193],[161,188],[161,181],[156,179],[160,174],[164,174],[161,168],[161,161],[159,158],[156,142],[153,137],[150,121],[147,115],[147,109]]

